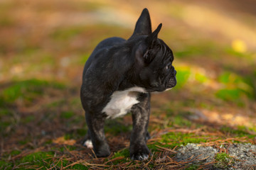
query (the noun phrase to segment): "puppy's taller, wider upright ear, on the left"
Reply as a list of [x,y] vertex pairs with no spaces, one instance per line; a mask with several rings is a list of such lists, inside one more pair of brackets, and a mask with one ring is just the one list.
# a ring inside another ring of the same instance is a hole
[[149,16],[149,11],[147,10],[147,8],[144,8],[141,16],[139,16],[139,19],[136,23],[132,37],[137,35],[149,35],[151,33],[152,33],[152,30],[151,30],[151,20]]

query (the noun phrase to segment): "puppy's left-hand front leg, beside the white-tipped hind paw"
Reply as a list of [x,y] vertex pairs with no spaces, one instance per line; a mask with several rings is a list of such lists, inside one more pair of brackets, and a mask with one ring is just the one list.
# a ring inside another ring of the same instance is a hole
[[107,145],[107,140],[104,133],[105,116],[99,116],[95,113],[86,112],[85,118],[92,140],[93,150],[97,157],[108,157],[110,155],[110,147]]

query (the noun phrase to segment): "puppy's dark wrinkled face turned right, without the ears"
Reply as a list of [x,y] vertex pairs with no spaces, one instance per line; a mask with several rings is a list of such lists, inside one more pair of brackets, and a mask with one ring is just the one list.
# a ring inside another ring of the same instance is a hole
[[139,73],[139,78],[147,91],[165,91],[176,86],[173,61],[173,52],[163,40],[158,39],[151,49],[146,50],[145,64]]

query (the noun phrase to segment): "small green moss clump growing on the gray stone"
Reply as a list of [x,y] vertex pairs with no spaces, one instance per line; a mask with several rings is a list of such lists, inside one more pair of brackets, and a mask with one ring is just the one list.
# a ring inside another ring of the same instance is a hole
[[215,168],[226,169],[230,166],[230,164],[234,163],[233,157],[230,157],[229,154],[226,153],[218,153],[215,155],[215,160],[217,163],[214,164]]

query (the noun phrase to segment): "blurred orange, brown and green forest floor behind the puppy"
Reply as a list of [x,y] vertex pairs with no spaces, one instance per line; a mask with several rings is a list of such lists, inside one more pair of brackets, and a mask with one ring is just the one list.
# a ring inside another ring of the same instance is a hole
[[[78,145],[87,131],[79,98],[83,66],[101,40],[129,38],[145,7],[153,30],[163,23],[159,38],[174,52],[178,81],[152,96],[151,135],[201,128],[215,135],[198,142],[228,136],[253,143],[255,6],[253,0],[1,0],[0,167],[50,167],[60,159],[46,164],[35,157],[63,153],[65,166],[77,160],[73,154],[92,159]],[[113,152],[123,153],[131,129],[130,115],[107,122]],[[178,145],[186,138],[180,135],[165,144]]]

